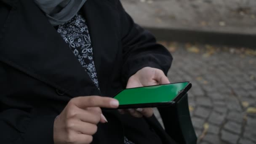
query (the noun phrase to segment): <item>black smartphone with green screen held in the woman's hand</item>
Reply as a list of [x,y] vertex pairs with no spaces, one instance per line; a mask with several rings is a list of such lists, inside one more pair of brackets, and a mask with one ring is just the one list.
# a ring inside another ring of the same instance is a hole
[[117,109],[164,107],[175,104],[192,87],[189,82],[128,88],[113,98],[119,101]]

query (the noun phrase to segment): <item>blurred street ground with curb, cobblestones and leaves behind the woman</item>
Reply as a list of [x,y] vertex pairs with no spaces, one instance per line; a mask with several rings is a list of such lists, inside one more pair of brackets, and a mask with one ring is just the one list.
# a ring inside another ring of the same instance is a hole
[[256,0],[121,2],[173,55],[171,82],[192,83],[198,144],[256,144]]

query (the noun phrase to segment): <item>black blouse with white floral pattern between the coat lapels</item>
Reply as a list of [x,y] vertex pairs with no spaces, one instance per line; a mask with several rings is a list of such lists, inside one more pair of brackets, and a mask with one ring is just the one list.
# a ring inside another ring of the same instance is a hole
[[83,16],[78,13],[65,24],[59,25],[57,32],[69,44],[78,61],[90,76],[93,83],[99,88],[96,69],[93,61],[93,48],[88,27]]

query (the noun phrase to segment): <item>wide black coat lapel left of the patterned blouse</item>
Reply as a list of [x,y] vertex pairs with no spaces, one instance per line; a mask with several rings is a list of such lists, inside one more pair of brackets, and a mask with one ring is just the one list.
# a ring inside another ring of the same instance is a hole
[[33,0],[14,4],[16,8],[9,13],[0,39],[0,61],[70,96],[99,94],[69,46]]

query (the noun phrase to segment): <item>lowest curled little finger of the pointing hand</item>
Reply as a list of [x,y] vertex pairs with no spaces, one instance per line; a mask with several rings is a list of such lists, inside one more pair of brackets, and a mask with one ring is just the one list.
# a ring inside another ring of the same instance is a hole
[[93,136],[83,133],[71,132],[67,138],[67,144],[90,144],[93,141]]

